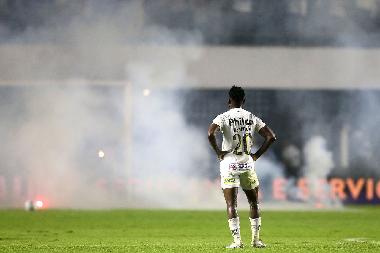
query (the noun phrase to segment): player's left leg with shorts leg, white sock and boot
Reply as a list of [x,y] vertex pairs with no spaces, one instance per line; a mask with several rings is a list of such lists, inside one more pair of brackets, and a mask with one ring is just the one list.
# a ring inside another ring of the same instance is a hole
[[222,176],[222,190],[227,205],[228,225],[230,226],[231,234],[234,237],[234,242],[226,248],[244,248],[240,237],[240,222],[237,215],[237,191],[239,188],[239,177]]

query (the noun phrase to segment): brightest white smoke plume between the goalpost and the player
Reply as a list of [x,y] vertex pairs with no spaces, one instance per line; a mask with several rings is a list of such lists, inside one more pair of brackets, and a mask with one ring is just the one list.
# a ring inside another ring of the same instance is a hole
[[[186,92],[173,89],[192,80],[185,62],[199,57],[199,50],[173,51],[166,57],[153,54],[127,65],[133,85],[133,197],[152,206],[223,206],[220,187],[203,174],[194,174],[210,169],[209,144],[206,133],[187,123]],[[154,88],[160,84],[169,89]]]

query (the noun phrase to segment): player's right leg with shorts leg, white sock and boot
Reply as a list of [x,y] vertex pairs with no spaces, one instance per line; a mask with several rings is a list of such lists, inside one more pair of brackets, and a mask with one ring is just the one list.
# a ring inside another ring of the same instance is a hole
[[254,170],[247,171],[240,175],[241,187],[247,196],[249,202],[249,220],[252,228],[252,247],[266,247],[266,245],[259,239],[259,232],[261,227],[261,213],[258,201],[259,182]]

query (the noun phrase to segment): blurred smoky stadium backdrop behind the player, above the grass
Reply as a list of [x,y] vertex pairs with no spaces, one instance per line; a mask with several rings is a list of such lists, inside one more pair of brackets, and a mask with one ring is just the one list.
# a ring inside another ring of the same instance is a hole
[[263,209],[380,204],[379,48],[379,0],[0,0],[0,208],[224,209],[233,85]]

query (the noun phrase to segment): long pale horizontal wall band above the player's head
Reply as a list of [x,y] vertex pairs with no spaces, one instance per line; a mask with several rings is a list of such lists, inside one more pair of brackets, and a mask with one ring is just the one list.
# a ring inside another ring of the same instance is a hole
[[162,87],[172,86],[173,78],[183,75],[186,81],[178,87],[380,88],[380,49],[0,46],[3,85],[19,81],[38,84],[43,80],[128,80],[131,68],[163,77],[159,78],[161,82],[149,84]]

